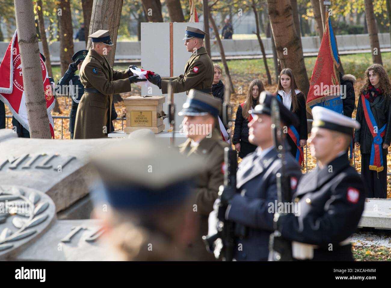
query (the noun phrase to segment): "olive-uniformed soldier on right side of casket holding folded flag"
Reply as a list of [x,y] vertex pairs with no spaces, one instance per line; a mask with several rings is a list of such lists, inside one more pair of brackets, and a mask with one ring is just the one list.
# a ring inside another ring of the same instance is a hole
[[177,77],[163,77],[159,74],[149,76],[148,80],[154,85],[157,85],[163,94],[167,93],[169,83],[172,83],[174,93],[187,92],[190,89],[197,89],[201,92],[212,95],[213,83],[213,63],[210,59],[205,47],[203,47],[204,31],[186,27],[186,35],[183,40],[186,40],[185,46],[188,52],[192,52],[189,60],[185,65],[185,74]]

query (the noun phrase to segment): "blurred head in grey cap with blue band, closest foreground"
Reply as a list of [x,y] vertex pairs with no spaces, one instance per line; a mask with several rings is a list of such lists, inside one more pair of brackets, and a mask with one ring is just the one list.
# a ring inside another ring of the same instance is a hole
[[99,150],[91,161],[102,179],[94,214],[113,250],[105,260],[184,260],[197,231],[190,196],[201,162],[140,138]]

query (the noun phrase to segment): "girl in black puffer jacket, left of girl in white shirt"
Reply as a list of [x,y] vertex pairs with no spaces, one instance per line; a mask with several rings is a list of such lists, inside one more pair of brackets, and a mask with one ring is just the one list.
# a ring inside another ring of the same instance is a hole
[[256,149],[256,146],[248,141],[248,123],[253,119],[249,111],[253,110],[255,105],[258,104],[259,95],[262,91],[265,91],[265,88],[261,80],[251,81],[246,101],[238,106],[236,112],[232,143],[235,145],[235,150],[239,152],[240,158],[244,158]]

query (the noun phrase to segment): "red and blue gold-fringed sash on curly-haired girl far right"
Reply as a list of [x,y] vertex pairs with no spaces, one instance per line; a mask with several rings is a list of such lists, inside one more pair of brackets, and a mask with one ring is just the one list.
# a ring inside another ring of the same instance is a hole
[[371,107],[369,106],[369,101],[365,98],[364,94],[361,94],[361,101],[365,120],[373,137],[369,170],[380,172],[383,171],[382,137],[386,134],[386,124],[379,129],[375,117],[373,117]]

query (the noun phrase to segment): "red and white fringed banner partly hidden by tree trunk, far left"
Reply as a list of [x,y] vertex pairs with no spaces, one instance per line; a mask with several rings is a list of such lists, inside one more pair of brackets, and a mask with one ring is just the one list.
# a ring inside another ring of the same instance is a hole
[[[49,82],[48,72],[45,63],[41,59],[42,83],[46,100],[46,110],[49,118],[50,133],[54,138],[54,121],[50,111],[54,108],[54,97]],[[23,71],[20,59],[18,35],[15,34],[8,45],[3,61],[0,64],[0,100],[4,102],[12,112],[12,115],[25,129],[29,130],[25,92],[23,87]],[[9,77],[8,77],[9,76]]]

